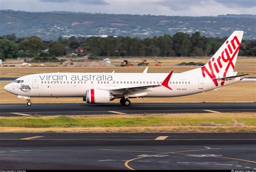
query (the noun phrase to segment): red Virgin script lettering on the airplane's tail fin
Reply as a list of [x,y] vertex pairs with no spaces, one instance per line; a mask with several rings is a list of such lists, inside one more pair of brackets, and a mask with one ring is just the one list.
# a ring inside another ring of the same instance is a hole
[[[237,45],[235,45],[235,42]],[[203,77],[205,77],[205,73],[212,79],[215,86],[218,86],[218,81],[216,79],[216,74],[218,74],[224,66],[226,66],[225,71],[223,73],[223,77],[226,77],[227,71],[230,67],[234,69],[233,59],[235,55],[238,53],[241,43],[239,42],[237,36],[231,40],[231,44],[228,44],[228,40],[226,41],[227,47],[221,52],[221,55],[218,58],[212,58],[208,61],[208,68],[206,65],[201,67]],[[213,64],[213,65],[212,65]],[[227,64],[227,65],[226,65]],[[221,73],[220,73],[221,74]],[[221,81],[221,85],[224,85],[224,81]]]

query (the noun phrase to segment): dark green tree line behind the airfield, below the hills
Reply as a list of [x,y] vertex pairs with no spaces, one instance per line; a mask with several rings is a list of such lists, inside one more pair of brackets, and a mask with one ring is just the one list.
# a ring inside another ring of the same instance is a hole
[[[132,37],[59,37],[45,41],[36,36],[17,38],[14,34],[0,37],[0,59],[33,57],[39,60],[56,60],[67,52],[83,47],[82,54],[92,56],[157,56],[197,57],[211,56],[227,38],[207,38],[199,32],[192,35],[178,32],[173,36],[153,38]],[[242,40],[239,56],[256,56],[256,40]]]

